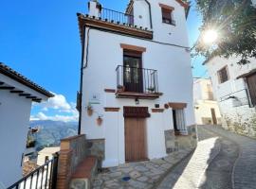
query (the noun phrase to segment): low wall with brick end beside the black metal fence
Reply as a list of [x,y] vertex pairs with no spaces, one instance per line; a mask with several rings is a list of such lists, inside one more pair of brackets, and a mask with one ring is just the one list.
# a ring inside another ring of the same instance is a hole
[[73,136],[61,141],[58,164],[57,189],[67,189],[70,178],[79,163],[88,154],[85,135]]

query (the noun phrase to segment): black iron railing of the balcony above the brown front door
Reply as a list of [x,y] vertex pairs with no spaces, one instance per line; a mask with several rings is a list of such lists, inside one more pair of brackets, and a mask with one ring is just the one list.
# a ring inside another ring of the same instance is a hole
[[158,94],[156,70],[119,65],[116,71],[118,92]]

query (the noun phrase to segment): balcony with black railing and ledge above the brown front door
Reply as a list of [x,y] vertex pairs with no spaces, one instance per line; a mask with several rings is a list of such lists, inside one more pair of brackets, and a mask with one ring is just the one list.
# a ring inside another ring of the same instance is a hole
[[119,65],[116,71],[118,98],[155,99],[162,95],[156,70]]

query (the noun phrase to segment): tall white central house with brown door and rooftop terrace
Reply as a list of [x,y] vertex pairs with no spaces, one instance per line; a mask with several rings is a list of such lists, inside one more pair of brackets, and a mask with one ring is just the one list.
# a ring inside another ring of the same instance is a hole
[[177,150],[174,133],[195,133],[189,5],[181,0],[132,0],[125,14],[96,1],[88,5],[88,14],[78,13],[79,108],[91,153],[100,151],[106,167]]

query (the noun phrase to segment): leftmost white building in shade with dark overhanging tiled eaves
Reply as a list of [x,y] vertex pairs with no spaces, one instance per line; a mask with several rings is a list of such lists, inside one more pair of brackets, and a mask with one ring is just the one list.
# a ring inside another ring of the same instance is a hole
[[22,178],[32,102],[52,96],[0,62],[0,182],[6,186]]

